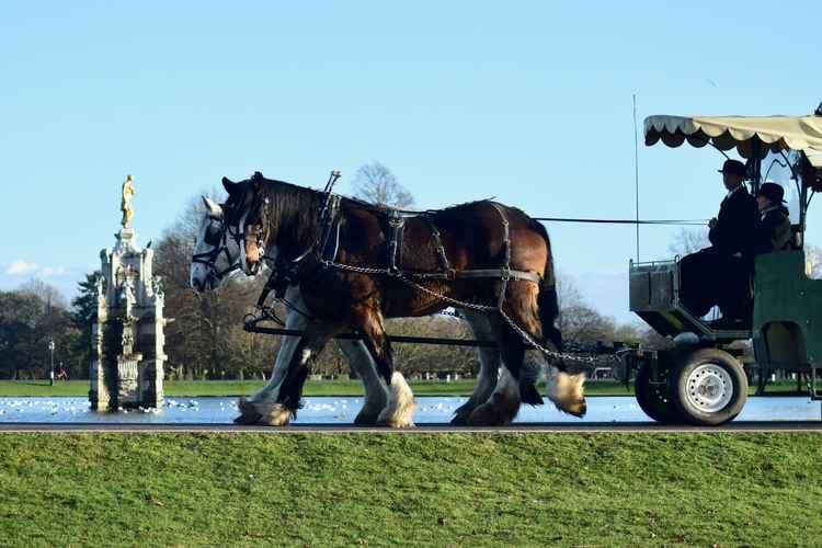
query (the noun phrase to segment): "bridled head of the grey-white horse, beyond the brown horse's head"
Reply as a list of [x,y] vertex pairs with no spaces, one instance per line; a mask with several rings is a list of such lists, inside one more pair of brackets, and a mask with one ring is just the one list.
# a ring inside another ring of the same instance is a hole
[[240,247],[228,233],[226,208],[203,196],[205,214],[197,229],[189,279],[196,292],[216,289],[222,279],[240,267]]

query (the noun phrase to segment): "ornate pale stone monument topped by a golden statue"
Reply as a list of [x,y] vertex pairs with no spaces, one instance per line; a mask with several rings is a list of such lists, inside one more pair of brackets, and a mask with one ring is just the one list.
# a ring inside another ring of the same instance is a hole
[[162,407],[163,293],[160,278],[152,274],[151,244],[137,248],[137,232],[132,228],[134,193],[128,175],[122,189],[123,220],[114,235],[116,243],[113,250],[100,252],[89,374],[89,399],[99,411]]

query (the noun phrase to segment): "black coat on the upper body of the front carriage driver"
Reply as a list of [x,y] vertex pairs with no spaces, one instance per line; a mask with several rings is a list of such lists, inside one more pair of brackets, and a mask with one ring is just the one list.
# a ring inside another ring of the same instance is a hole
[[720,253],[744,253],[750,247],[751,233],[760,221],[756,198],[743,184],[727,196],[719,206],[717,226],[708,232],[708,239]]

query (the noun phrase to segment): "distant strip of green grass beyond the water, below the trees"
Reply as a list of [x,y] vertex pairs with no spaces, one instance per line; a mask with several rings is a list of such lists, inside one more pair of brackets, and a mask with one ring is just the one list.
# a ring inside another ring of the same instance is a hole
[[[445,383],[438,380],[411,381],[415,396],[469,396],[473,390],[473,379],[459,379]],[[262,388],[262,380],[167,380],[165,396],[248,396]],[[754,393],[755,387],[750,388]],[[796,390],[796,381],[781,381],[768,385],[767,392],[789,392]],[[88,380],[57,381],[48,386],[47,380],[0,380],[2,396],[75,396],[89,393]],[[362,396],[363,386],[358,380],[309,380],[306,396]],[[620,383],[590,380],[585,383],[589,396],[633,396],[633,387],[626,389]]]

